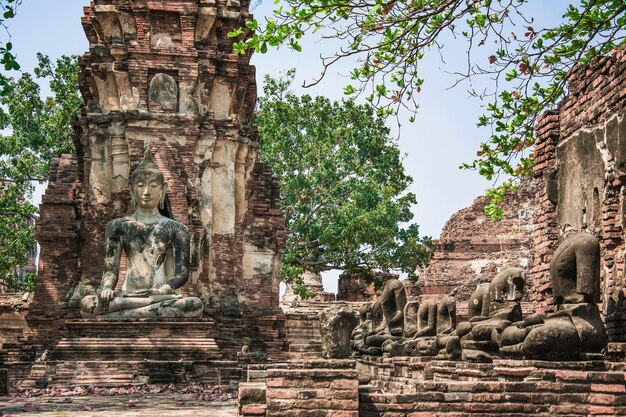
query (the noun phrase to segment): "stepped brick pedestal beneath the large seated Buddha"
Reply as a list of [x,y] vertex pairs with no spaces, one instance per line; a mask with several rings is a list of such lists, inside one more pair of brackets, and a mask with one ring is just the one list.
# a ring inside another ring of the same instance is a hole
[[48,386],[218,384],[236,387],[237,361],[222,361],[211,320],[72,320],[32,367],[7,363],[9,390]]

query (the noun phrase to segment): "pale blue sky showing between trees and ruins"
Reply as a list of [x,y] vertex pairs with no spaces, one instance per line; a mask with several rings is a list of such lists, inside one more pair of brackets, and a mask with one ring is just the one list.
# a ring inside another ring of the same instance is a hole
[[[537,9],[530,8],[529,12],[542,19],[535,25],[539,28],[542,22],[558,20],[569,2],[535,0],[532,3]],[[88,49],[80,24],[83,6],[87,4],[88,0],[23,0],[17,16],[8,21],[23,70],[30,71],[34,67],[37,52],[55,58],[62,54],[82,54]],[[253,13],[262,18],[272,7],[273,1],[265,0]],[[6,34],[2,33],[0,39],[6,41]],[[252,62],[257,68],[259,84],[265,74],[278,75],[292,67],[297,70],[296,84],[315,79],[321,71],[320,53],[333,45],[314,40],[303,45],[301,53],[282,48],[270,50],[265,55],[254,55]],[[460,42],[448,42],[444,47],[445,64],[437,53],[424,60],[422,68],[426,81],[419,97],[420,110],[414,123],[409,123],[408,115],[404,115],[398,142],[406,154],[406,171],[414,179],[410,189],[418,200],[413,210],[414,221],[420,225],[423,234],[434,238],[439,236],[454,212],[470,205],[491,185],[475,172],[458,169],[462,162],[474,159],[478,145],[488,134],[476,127],[476,118],[482,114],[482,103],[469,97],[467,85],[449,89],[455,81],[450,72],[463,69],[463,46]],[[348,65],[340,65],[316,87],[306,91],[298,88],[296,92],[341,99],[341,91],[348,81],[345,77],[348,68]],[[396,134],[395,122],[391,120],[389,124]]]

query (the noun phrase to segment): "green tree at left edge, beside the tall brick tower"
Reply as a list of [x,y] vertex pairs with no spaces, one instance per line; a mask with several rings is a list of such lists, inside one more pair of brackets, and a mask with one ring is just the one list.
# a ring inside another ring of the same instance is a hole
[[[76,57],[37,58],[34,76],[6,78],[0,95],[0,279],[8,281],[35,244],[34,182],[47,180],[52,158],[73,152],[71,121],[82,103]],[[49,84],[50,97],[41,97],[38,81]]]

